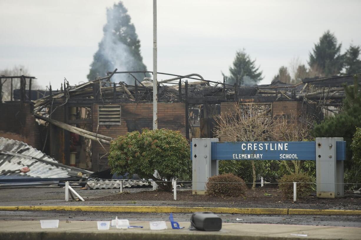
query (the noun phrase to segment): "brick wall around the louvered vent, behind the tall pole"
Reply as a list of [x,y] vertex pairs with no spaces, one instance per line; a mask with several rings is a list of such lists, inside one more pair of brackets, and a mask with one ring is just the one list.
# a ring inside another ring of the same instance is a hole
[[[121,124],[120,125],[99,125],[98,128],[98,108],[99,104],[92,107],[93,132],[116,138],[119,135],[125,135],[127,132],[135,130],[141,131],[142,128],[153,128],[153,103],[122,103],[121,105]],[[184,103],[158,103],[158,128],[167,128],[179,130],[186,135],[186,117]],[[102,170],[106,165],[106,157],[98,163],[98,154],[101,156],[109,151],[109,146],[104,148],[95,141],[92,141],[92,169]]]

